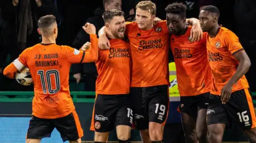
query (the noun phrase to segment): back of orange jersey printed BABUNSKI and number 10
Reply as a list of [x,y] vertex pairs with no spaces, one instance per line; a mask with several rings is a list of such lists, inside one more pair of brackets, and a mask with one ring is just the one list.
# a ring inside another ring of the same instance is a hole
[[84,52],[55,44],[37,44],[22,52],[18,60],[29,68],[34,80],[35,116],[54,119],[74,110],[68,85],[69,69],[83,58]]

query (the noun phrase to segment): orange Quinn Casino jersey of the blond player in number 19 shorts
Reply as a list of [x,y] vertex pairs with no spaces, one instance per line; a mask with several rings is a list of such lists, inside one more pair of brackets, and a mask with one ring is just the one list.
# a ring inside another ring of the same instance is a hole
[[136,22],[126,23],[132,55],[131,87],[149,87],[169,84],[169,33],[166,21],[143,31]]

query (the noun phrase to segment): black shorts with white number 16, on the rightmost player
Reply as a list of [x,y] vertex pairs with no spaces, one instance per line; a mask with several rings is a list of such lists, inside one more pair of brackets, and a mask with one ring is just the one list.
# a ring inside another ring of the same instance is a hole
[[249,89],[242,89],[231,94],[226,104],[222,104],[218,95],[210,95],[206,116],[207,125],[225,123],[227,128],[235,125],[241,130],[256,127],[256,117]]

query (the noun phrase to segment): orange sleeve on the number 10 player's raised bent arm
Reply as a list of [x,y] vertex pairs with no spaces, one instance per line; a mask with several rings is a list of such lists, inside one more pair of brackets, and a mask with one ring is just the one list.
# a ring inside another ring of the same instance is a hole
[[71,64],[91,63],[98,60],[99,47],[98,47],[97,35],[95,34],[90,35],[90,40],[91,40],[91,47],[90,47],[91,49],[86,52],[82,50],[78,51],[77,49],[71,48],[69,46],[64,46],[66,47],[68,61]]

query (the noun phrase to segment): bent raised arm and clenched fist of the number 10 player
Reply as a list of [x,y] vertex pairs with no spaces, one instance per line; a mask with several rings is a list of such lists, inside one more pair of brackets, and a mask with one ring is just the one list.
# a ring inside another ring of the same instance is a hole
[[78,51],[77,49],[67,47],[67,57],[70,63],[91,63],[98,60],[98,39],[96,33],[96,28],[93,24],[86,23],[83,29],[90,35],[91,49],[88,51],[82,51],[82,48]]

